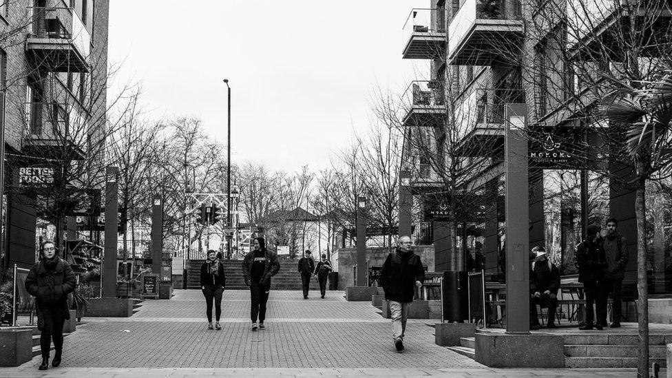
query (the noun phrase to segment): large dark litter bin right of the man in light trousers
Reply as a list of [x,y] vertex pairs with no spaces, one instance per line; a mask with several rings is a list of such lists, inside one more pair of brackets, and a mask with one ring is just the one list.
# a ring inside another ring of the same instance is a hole
[[464,322],[469,319],[468,282],[468,272],[443,272],[441,312],[444,320]]

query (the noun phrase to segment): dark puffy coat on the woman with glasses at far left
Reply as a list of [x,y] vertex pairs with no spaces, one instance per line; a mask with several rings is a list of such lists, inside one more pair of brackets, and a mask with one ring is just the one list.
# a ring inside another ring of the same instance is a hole
[[77,281],[70,264],[58,259],[52,270],[46,268],[44,260],[34,264],[25,277],[25,290],[35,297],[39,316],[43,311],[61,311],[65,319],[70,319],[67,295],[74,291]]

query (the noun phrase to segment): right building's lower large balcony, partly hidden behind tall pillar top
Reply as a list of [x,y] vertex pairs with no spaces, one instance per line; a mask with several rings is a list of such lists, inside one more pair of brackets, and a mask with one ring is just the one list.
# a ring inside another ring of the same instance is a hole
[[455,107],[456,154],[465,157],[496,157],[503,151],[504,112],[507,103],[524,100],[523,90],[479,88]]

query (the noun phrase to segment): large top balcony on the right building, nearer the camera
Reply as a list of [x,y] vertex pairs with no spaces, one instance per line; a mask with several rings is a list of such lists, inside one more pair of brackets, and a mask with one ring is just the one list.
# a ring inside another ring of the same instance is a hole
[[465,0],[448,25],[448,64],[512,60],[523,36],[518,0]]

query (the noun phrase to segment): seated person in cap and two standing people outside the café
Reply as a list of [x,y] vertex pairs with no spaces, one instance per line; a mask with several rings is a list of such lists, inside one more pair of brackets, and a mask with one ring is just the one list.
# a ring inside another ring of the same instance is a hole
[[[580,330],[607,327],[607,299],[613,298],[611,328],[620,327],[621,291],[625,267],[628,264],[627,239],[618,232],[618,220],[609,218],[602,233],[599,224],[587,227],[586,240],[576,246],[574,264],[578,269],[578,282],[584,287],[586,313],[585,324]],[[530,253],[529,270],[529,328],[540,328],[536,305],[548,308],[548,328],[555,324],[558,306],[560,271],[546,257],[546,250],[536,246]],[[595,310],[593,309],[595,305]]]

